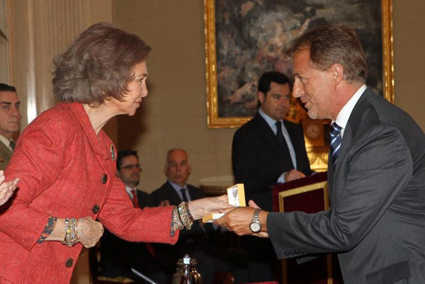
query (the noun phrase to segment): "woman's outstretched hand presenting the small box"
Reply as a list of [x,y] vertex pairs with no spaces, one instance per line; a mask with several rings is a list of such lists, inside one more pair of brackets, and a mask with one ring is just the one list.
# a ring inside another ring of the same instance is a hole
[[234,208],[227,203],[227,195],[193,200],[188,203],[188,206],[194,220],[216,213],[220,209]]

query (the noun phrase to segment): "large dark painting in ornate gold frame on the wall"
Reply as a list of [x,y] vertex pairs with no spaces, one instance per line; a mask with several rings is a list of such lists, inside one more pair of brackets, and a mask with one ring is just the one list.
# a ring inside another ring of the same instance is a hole
[[[256,112],[256,84],[275,69],[292,76],[285,55],[305,30],[348,25],[368,63],[366,84],[394,101],[392,0],[204,0],[208,127],[239,127]],[[293,101],[288,118],[305,116]]]

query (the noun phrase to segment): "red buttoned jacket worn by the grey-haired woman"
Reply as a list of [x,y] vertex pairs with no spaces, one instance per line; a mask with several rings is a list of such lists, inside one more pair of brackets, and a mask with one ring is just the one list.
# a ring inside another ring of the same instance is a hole
[[115,177],[116,154],[79,103],[61,103],[28,125],[6,170],[20,181],[0,213],[0,283],[69,283],[82,246],[38,244],[50,215],[91,216],[128,241],[176,243],[172,208],[133,208]]

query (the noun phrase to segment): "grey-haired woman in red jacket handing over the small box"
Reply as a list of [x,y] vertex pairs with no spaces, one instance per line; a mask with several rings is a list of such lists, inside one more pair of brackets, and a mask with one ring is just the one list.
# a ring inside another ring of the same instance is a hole
[[0,283],[69,283],[103,226],[128,241],[174,244],[179,229],[229,207],[223,195],[140,210],[115,177],[117,151],[102,127],[134,115],[147,96],[150,50],[137,35],[97,23],[55,58],[61,103],[23,131],[6,170],[19,187],[0,208]]

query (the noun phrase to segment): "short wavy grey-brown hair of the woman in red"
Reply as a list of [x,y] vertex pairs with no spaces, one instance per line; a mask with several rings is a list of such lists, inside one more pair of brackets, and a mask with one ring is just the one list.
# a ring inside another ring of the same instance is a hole
[[151,49],[111,23],[91,25],[53,59],[53,93],[68,103],[97,105],[111,97],[123,101],[135,65],[144,62]]

